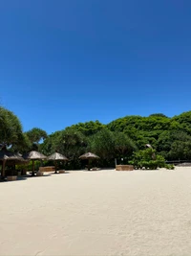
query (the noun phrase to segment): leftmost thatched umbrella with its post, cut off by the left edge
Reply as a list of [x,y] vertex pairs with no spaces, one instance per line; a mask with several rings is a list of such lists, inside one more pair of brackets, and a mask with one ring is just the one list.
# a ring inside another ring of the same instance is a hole
[[3,162],[2,165],[2,172],[1,176],[5,176],[5,168],[6,168],[6,162],[8,160],[17,160],[17,161],[23,161],[23,157],[19,153],[13,153],[11,151],[8,151],[6,147],[3,147],[3,149],[0,151],[0,160]]

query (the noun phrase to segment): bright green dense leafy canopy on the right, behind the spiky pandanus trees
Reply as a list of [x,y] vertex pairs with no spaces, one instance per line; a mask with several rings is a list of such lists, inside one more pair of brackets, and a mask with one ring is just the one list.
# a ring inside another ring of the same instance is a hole
[[191,160],[191,111],[173,118],[163,114],[126,116],[107,127],[127,134],[139,150],[149,143],[167,160]]

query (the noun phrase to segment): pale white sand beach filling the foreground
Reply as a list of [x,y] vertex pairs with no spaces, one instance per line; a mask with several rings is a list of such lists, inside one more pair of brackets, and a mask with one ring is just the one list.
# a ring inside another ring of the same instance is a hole
[[191,255],[191,168],[0,183],[0,255]]

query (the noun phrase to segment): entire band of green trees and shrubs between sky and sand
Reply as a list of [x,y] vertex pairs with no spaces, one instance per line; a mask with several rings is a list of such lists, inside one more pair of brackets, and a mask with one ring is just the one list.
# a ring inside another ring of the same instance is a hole
[[164,159],[191,160],[191,111],[173,118],[161,113],[148,117],[126,116],[108,125],[90,121],[47,135],[40,128],[23,132],[19,119],[11,111],[0,107],[0,144],[20,152],[37,150],[49,155],[59,151],[70,159],[70,169],[86,164],[78,156],[87,151],[100,156],[99,166],[113,167],[117,158],[118,164],[134,161],[136,165],[137,161],[137,165],[143,162],[147,168],[145,161],[148,159],[145,160],[145,157],[152,150],[145,151],[145,145],[151,144],[157,159],[149,158],[148,168],[155,169],[163,165]]

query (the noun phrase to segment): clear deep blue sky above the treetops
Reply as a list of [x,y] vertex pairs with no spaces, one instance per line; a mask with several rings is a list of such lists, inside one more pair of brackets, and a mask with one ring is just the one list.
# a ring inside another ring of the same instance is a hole
[[6,0],[0,24],[0,104],[24,130],[191,109],[190,0]]

